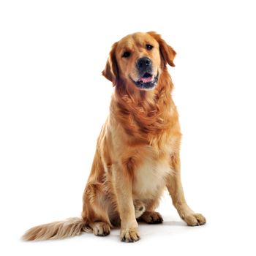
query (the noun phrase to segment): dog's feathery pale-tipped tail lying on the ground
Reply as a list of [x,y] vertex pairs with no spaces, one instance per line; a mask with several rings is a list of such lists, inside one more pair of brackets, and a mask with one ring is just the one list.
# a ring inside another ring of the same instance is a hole
[[25,241],[67,238],[90,231],[90,227],[83,219],[69,218],[61,222],[51,222],[37,227],[31,227],[22,238]]

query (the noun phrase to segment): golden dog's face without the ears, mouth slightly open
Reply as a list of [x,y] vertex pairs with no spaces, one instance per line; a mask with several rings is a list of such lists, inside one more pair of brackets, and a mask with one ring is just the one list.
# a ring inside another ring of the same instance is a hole
[[159,44],[149,34],[124,37],[116,47],[116,60],[121,79],[138,89],[153,89],[160,72]]

